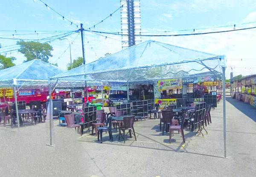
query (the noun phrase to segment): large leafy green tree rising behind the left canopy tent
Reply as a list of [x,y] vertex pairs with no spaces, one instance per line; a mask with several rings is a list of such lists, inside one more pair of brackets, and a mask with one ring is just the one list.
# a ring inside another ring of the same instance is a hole
[[[33,59],[39,59],[41,61],[45,61],[49,63],[49,57],[52,57],[51,51],[52,46],[47,43],[40,43],[40,42],[25,42],[25,41],[17,41],[17,44],[20,45],[19,52],[23,53],[27,58],[26,61],[30,61]],[[24,61],[24,62],[26,62]]]

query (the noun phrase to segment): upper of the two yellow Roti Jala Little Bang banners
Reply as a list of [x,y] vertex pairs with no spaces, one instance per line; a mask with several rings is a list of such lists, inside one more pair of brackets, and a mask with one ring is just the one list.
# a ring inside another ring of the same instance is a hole
[[179,89],[182,88],[182,79],[181,78],[172,78],[162,81],[158,81],[158,90],[170,90],[170,89]]

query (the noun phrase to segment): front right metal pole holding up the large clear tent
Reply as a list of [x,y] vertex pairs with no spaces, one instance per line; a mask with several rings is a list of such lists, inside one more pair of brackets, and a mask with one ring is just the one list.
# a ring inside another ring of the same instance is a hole
[[227,158],[226,145],[226,91],[225,91],[225,67],[222,67],[222,88],[223,88],[223,132],[224,132],[224,158]]

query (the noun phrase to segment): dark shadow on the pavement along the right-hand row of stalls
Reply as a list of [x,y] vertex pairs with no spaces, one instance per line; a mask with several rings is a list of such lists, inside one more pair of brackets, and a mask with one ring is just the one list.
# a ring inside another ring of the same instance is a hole
[[256,122],[256,109],[250,104],[240,102],[237,99],[232,99],[231,97],[226,97],[226,101],[232,104],[236,109],[240,110],[254,122]]

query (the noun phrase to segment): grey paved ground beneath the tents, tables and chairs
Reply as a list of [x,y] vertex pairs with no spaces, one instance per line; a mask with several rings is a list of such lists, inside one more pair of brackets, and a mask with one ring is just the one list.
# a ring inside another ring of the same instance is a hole
[[137,141],[114,141],[58,126],[49,147],[49,122],[11,129],[0,125],[0,176],[84,177],[254,177],[256,176],[256,109],[227,97],[227,157],[224,159],[222,102],[211,110],[208,135],[185,130],[186,143],[159,130],[159,119],[134,125]]

